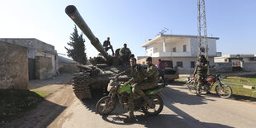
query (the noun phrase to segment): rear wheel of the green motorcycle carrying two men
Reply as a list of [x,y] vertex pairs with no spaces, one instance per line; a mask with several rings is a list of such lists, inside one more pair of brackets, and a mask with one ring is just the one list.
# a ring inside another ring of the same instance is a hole
[[164,108],[164,102],[159,95],[154,94],[150,95],[149,97],[149,104],[146,107],[142,107],[142,111],[145,115],[149,116],[157,116]]

